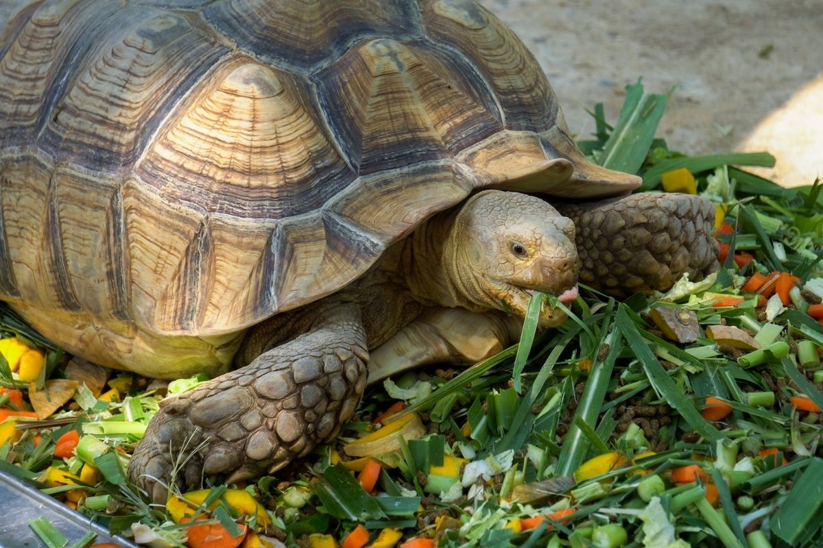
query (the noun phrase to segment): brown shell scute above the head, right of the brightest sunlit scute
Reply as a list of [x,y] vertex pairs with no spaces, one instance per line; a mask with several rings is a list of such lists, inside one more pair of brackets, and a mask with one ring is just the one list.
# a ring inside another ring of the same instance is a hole
[[321,104],[360,175],[452,158],[503,128],[458,63],[423,44],[374,39],[319,75]]

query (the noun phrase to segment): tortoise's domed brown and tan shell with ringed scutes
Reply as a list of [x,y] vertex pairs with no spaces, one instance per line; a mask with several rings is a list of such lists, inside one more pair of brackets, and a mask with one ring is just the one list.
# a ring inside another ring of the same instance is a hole
[[225,347],[477,189],[636,186],[585,161],[474,2],[6,0],[0,21],[0,298],[105,365]]

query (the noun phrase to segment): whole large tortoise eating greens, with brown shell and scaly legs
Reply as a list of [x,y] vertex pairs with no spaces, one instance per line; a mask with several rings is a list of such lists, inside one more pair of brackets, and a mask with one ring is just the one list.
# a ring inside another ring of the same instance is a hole
[[503,348],[536,290],[717,268],[714,207],[588,162],[474,2],[12,0],[0,21],[0,298],[96,364],[215,377],[137,445],[158,501],[304,456],[367,378]]

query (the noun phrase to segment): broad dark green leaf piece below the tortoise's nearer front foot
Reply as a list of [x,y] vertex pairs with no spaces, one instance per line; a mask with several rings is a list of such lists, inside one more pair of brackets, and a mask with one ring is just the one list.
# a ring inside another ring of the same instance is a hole
[[314,486],[320,502],[335,518],[351,521],[384,519],[380,505],[360,486],[360,483],[342,464],[326,468],[322,481]]

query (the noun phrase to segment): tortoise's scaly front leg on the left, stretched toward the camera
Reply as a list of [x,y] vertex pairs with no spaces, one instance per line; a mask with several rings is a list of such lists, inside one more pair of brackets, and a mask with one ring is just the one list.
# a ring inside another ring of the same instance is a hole
[[184,490],[203,476],[233,482],[286,466],[351,417],[365,389],[366,348],[360,309],[338,306],[309,333],[163,402],[128,476],[165,504],[171,483]]

